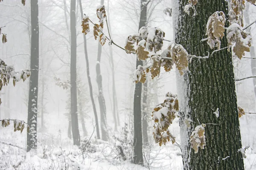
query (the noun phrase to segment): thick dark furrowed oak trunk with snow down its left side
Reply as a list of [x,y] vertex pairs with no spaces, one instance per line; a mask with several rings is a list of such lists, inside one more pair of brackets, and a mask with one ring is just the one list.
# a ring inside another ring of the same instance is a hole
[[[207,56],[211,54],[205,38],[207,20],[215,11],[223,11],[228,17],[227,0],[201,0],[195,6],[197,15],[192,17],[184,12],[187,0],[175,0],[177,10],[173,16],[175,42],[183,45],[189,54]],[[228,18],[226,26],[228,27]],[[226,37],[221,48],[227,46]],[[189,71],[183,76],[177,73],[177,87],[181,111],[180,134],[183,166],[185,170],[243,170],[241,135],[236,103],[236,92],[232,55],[227,49],[216,52],[207,59],[192,58]],[[218,108],[219,117],[213,112]],[[192,127],[184,119],[190,118]],[[200,122],[200,123],[199,123]],[[189,144],[189,136],[199,124],[205,127],[206,146],[195,153]],[[227,158],[227,156],[229,156]],[[223,160],[223,158],[226,158]]]

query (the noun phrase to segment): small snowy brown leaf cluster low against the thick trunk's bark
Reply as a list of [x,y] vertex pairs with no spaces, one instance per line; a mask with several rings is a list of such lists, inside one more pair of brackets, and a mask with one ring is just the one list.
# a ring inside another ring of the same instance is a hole
[[204,127],[206,127],[205,124],[198,125],[191,133],[189,142],[192,148],[195,150],[195,153],[198,153],[198,147],[204,149],[204,146],[206,146]]

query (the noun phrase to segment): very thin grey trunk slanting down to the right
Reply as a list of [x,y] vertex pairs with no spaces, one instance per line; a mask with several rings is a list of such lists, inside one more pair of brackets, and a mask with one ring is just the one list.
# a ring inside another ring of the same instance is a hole
[[[81,0],[79,0],[79,6],[80,6],[81,18],[83,18],[83,8],[82,8]],[[86,35],[84,35],[84,55],[85,55],[85,61],[86,61],[86,72],[87,72],[87,79],[88,79],[88,85],[89,85],[89,90],[90,90],[90,98],[91,98],[91,101],[92,101],[93,113],[94,113],[95,122],[96,122],[97,139],[100,139],[100,136],[99,136],[99,121],[98,121],[95,102],[94,102],[94,99],[93,99],[93,86],[92,86],[92,82],[91,82],[91,79],[90,79],[90,66],[89,66],[89,59],[88,59],[88,53],[87,53]]]

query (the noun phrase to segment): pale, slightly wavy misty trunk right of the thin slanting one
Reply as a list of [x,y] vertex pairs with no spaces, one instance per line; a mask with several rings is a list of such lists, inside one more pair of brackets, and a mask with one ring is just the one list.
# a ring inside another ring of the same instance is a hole
[[[101,5],[104,5],[104,0],[101,0]],[[101,131],[102,131],[102,140],[108,140],[108,130],[107,130],[107,120],[106,120],[106,104],[105,98],[103,95],[103,88],[102,88],[102,75],[100,71],[100,59],[102,53],[102,46],[98,43],[98,54],[97,54],[97,63],[96,63],[96,81],[98,84],[99,90],[99,110],[100,110],[100,121],[101,121]]]

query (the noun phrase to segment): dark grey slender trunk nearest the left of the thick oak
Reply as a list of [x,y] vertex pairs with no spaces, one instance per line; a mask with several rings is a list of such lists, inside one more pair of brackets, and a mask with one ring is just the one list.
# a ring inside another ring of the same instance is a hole
[[[147,21],[147,6],[144,5],[146,0],[140,1],[140,23],[139,30],[141,27],[146,26]],[[138,65],[143,65],[143,61],[136,59],[136,68]],[[142,147],[142,127],[141,127],[141,93],[142,83],[138,82],[135,84],[134,89],[134,164],[143,164],[143,147]]]

